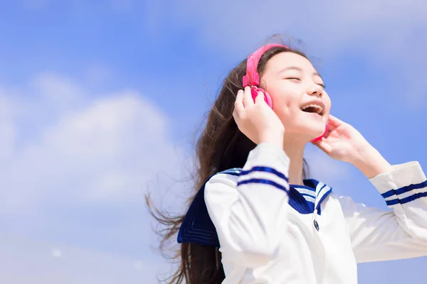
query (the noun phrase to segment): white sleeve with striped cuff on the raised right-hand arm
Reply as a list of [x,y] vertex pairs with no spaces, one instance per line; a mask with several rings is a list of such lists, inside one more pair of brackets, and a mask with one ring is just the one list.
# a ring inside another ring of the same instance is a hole
[[357,262],[427,256],[427,182],[418,162],[370,179],[391,210],[340,197]]

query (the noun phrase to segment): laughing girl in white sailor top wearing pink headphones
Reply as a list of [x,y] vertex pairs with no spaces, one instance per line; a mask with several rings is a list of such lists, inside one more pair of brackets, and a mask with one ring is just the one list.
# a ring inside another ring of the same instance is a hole
[[[266,45],[230,72],[197,143],[188,212],[154,214],[169,225],[164,241],[178,233],[181,244],[169,283],[352,284],[357,263],[427,255],[420,165],[390,165],[330,107],[315,67],[285,45]],[[390,210],[306,179],[310,142],[359,168]]]

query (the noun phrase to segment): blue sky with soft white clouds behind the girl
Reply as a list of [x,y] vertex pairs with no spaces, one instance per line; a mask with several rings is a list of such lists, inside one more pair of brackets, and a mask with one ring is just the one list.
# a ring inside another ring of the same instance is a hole
[[[332,114],[390,163],[427,165],[426,15],[424,0],[0,0],[0,283],[157,283],[144,194],[182,209],[221,81],[273,33],[312,58]],[[313,178],[386,209],[354,167],[306,152]],[[359,283],[426,283],[426,266],[366,263]]]

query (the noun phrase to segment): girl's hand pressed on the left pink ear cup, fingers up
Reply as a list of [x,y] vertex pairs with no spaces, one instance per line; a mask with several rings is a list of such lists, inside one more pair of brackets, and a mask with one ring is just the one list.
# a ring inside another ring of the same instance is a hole
[[264,94],[258,93],[253,102],[251,87],[238,91],[233,117],[238,129],[255,144],[273,143],[283,148],[285,126],[273,109],[265,102]]

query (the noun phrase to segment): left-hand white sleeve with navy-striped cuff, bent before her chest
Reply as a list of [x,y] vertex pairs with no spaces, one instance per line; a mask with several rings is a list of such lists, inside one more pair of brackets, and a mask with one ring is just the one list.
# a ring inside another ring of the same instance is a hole
[[214,175],[205,202],[221,251],[254,267],[275,258],[287,231],[289,158],[283,149],[260,143],[233,180]]

